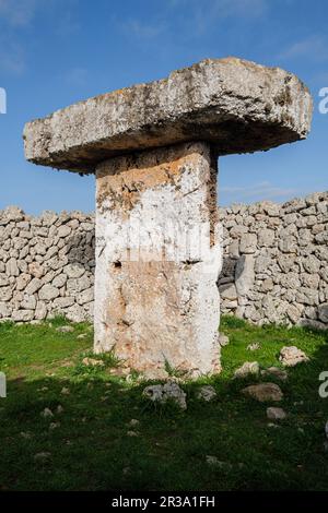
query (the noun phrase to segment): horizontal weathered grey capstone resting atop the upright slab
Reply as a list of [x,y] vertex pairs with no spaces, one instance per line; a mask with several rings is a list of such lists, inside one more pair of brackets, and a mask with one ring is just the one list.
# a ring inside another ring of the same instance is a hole
[[27,123],[25,154],[35,164],[92,172],[115,155],[188,141],[210,142],[219,155],[269,150],[304,139],[311,118],[311,95],[295,75],[208,59]]

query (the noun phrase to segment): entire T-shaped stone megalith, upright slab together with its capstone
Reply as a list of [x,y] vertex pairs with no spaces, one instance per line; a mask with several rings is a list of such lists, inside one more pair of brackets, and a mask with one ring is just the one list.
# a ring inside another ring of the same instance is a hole
[[26,124],[26,158],[96,176],[95,350],[147,375],[220,370],[218,157],[305,139],[293,74],[235,58]]

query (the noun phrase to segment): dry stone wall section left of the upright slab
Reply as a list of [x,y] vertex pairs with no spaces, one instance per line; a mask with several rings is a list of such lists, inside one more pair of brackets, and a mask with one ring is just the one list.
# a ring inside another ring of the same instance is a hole
[[0,212],[0,320],[93,319],[94,216]]

